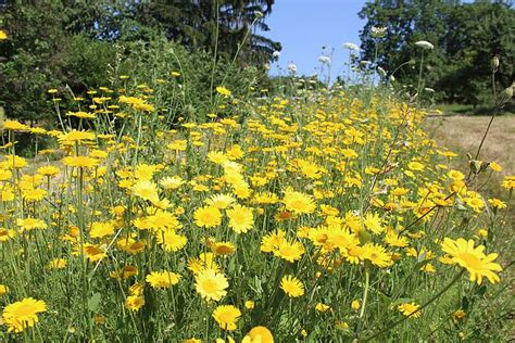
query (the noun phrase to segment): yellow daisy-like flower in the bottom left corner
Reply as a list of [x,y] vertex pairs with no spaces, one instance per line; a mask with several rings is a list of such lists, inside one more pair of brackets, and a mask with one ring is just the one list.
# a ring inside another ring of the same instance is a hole
[[47,304],[33,297],[26,297],[3,309],[3,321],[9,332],[22,332],[38,322],[38,314],[47,312]]

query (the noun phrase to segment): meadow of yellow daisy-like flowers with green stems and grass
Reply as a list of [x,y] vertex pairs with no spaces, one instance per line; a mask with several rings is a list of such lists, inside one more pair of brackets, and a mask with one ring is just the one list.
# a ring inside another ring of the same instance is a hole
[[[419,94],[434,46],[414,47]],[[0,341],[507,341],[515,176],[481,152],[490,126],[464,166],[420,97],[355,73],[208,75],[188,112],[190,75],[161,65],[47,89],[54,126],[5,113]]]

